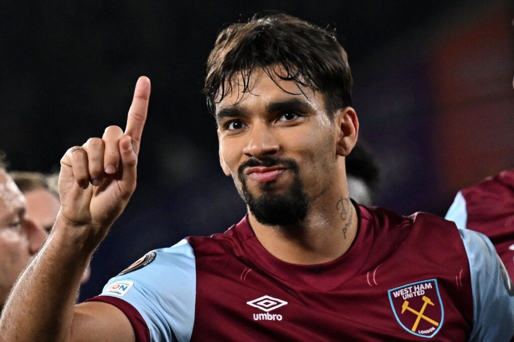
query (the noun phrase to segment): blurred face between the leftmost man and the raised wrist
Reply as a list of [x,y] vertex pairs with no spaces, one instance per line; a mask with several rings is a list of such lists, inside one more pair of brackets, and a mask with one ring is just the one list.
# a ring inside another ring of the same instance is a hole
[[27,217],[35,224],[50,232],[61,207],[59,198],[47,189],[26,192]]

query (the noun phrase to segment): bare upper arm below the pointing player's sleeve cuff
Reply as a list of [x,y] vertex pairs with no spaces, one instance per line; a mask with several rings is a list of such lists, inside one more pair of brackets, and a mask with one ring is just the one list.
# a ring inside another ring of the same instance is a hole
[[81,342],[136,341],[125,314],[114,305],[98,301],[75,306],[70,335],[71,341]]

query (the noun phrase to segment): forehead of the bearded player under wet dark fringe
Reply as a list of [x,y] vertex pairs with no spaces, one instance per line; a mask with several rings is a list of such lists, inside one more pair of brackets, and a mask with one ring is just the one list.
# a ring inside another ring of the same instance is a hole
[[255,68],[249,77],[237,73],[225,85],[226,95],[216,104],[218,113],[230,107],[259,107],[273,102],[297,99],[305,102],[315,110],[325,110],[324,98],[321,92],[304,86],[287,78],[287,72],[279,67]]

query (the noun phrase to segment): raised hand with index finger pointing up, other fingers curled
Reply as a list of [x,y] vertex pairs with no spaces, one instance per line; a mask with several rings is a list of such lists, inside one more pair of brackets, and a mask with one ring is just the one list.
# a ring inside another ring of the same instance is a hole
[[74,146],[61,159],[60,215],[72,225],[101,231],[118,218],[136,188],[136,166],[150,98],[150,80],[140,77],[125,132],[109,126],[103,137]]

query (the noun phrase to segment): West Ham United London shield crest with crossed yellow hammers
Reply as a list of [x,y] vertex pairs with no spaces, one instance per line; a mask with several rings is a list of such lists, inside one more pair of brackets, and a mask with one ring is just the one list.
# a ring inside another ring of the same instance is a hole
[[421,337],[434,337],[445,316],[437,279],[422,280],[388,291],[391,308],[400,326]]

